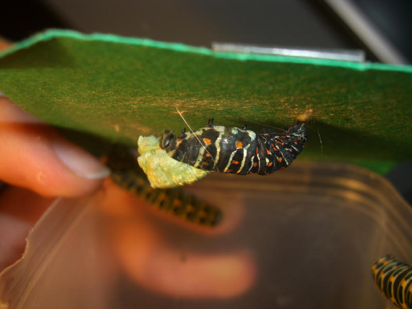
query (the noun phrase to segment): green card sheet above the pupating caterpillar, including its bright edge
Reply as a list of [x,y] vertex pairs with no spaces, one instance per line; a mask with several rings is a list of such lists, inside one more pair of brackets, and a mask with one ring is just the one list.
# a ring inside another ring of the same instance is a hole
[[[133,146],[139,135],[217,125],[260,132],[310,115],[299,159],[377,172],[412,158],[412,67],[268,55],[49,30],[0,56],[0,91],[70,136]],[[264,125],[256,124],[263,123]]]

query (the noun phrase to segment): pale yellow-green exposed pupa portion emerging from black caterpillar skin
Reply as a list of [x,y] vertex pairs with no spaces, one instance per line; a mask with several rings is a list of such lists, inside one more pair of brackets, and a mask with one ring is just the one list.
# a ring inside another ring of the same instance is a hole
[[194,183],[211,173],[172,159],[159,146],[159,137],[140,136],[137,158],[152,188],[174,188]]

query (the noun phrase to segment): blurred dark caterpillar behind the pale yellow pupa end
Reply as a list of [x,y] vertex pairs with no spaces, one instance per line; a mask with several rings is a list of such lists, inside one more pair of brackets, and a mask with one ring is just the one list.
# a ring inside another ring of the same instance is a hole
[[202,226],[216,226],[222,219],[219,208],[201,201],[193,194],[178,188],[153,189],[136,164],[136,157],[130,154],[127,147],[112,147],[107,155],[107,166],[117,185],[140,196],[154,208]]

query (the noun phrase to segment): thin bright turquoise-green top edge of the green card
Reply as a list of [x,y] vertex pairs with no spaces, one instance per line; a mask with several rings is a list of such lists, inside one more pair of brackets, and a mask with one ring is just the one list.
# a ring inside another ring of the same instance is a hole
[[276,56],[268,54],[252,54],[252,53],[235,53],[235,52],[214,52],[206,47],[196,47],[185,45],[182,43],[168,43],[154,41],[151,39],[139,39],[130,37],[121,37],[115,34],[102,34],[91,33],[84,34],[74,30],[62,30],[62,29],[49,29],[44,32],[33,35],[32,37],[14,44],[10,49],[0,53],[0,58],[12,53],[16,50],[30,47],[41,41],[48,41],[54,38],[71,38],[83,41],[101,41],[121,44],[132,44],[140,46],[155,47],[161,49],[168,49],[181,52],[193,52],[197,54],[203,54],[212,56],[215,58],[232,59],[239,61],[264,61],[264,62],[285,62],[285,63],[300,63],[300,64],[314,64],[350,68],[353,70],[365,71],[365,70],[386,70],[386,71],[400,71],[400,72],[412,72],[412,66],[410,65],[393,65],[384,63],[371,63],[371,62],[351,62],[351,61],[339,61],[339,60],[326,60],[316,58],[305,57],[291,57],[291,56]]

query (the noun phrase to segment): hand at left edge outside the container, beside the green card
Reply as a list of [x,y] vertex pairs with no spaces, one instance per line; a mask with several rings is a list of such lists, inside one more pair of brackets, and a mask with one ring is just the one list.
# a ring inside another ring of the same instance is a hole
[[[0,96],[0,271],[20,258],[51,197],[96,190],[109,170],[40,119]],[[3,185],[4,186],[4,185]],[[47,197],[45,197],[47,196]]]

